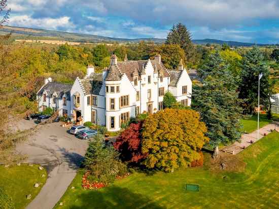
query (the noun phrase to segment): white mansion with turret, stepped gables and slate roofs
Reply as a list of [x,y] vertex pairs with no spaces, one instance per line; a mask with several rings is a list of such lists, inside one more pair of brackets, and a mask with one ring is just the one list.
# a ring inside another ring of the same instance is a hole
[[86,77],[77,78],[74,85],[45,80],[37,100],[40,111],[50,107],[74,122],[82,118],[117,131],[130,117],[162,110],[166,91],[184,106],[191,105],[192,82],[182,62],[178,69],[166,69],[160,55],[139,61],[117,61],[112,55],[102,73],[89,65]]

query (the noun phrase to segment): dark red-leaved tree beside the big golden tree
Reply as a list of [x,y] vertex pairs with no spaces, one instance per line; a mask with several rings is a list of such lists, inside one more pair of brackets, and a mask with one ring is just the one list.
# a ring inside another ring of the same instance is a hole
[[131,123],[130,126],[119,135],[114,143],[114,148],[121,153],[120,157],[122,160],[138,163],[147,157],[147,154],[142,153],[142,126],[142,121]]

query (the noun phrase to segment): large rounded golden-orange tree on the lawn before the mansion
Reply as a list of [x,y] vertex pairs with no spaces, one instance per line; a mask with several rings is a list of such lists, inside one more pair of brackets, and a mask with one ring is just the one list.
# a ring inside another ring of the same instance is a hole
[[146,118],[143,124],[143,164],[173,172],[199,159],[199,150],[208,138],[206,126],[193,110],[165,109]]

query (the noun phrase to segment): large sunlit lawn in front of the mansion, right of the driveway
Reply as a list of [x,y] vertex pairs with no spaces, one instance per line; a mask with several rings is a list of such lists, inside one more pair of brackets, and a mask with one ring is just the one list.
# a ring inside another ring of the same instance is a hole
[[[272,132],[238,154],[244,171],[188,167],[153,175],[135,172],[97,191],[81,188],[81,171],[56,208],[275,208],[279,205],[279,133]],[[243,169],[242,169],[243,170]],[[223,177],[226,176],[224,179]],[[199,192],[185,191],[199,184]]]

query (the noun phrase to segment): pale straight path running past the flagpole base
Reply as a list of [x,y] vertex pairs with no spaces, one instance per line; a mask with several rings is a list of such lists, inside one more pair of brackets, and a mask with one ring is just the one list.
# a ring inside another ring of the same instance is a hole
[[[264,136],[264,133],[268,134],[270,133],[270,129],[274,129],[276,126],[276,131],[279,131],[279,124],[278,123],[271,123],[268,124],[262,128],[259,129],[259,140]],[[231,146],[225,147],[224,149],[221,149],[222,151],[228,151],[229,153],[233,153],[236,155],[237,153],[241,152],[243,150],[243,147],[247,148],[248,146],[252,145],[250,142],[251,140],[253,142],[257,142],[257,130],[253,131],[252,133],[245,133],[242,134],[240,141],[235,142]]]

